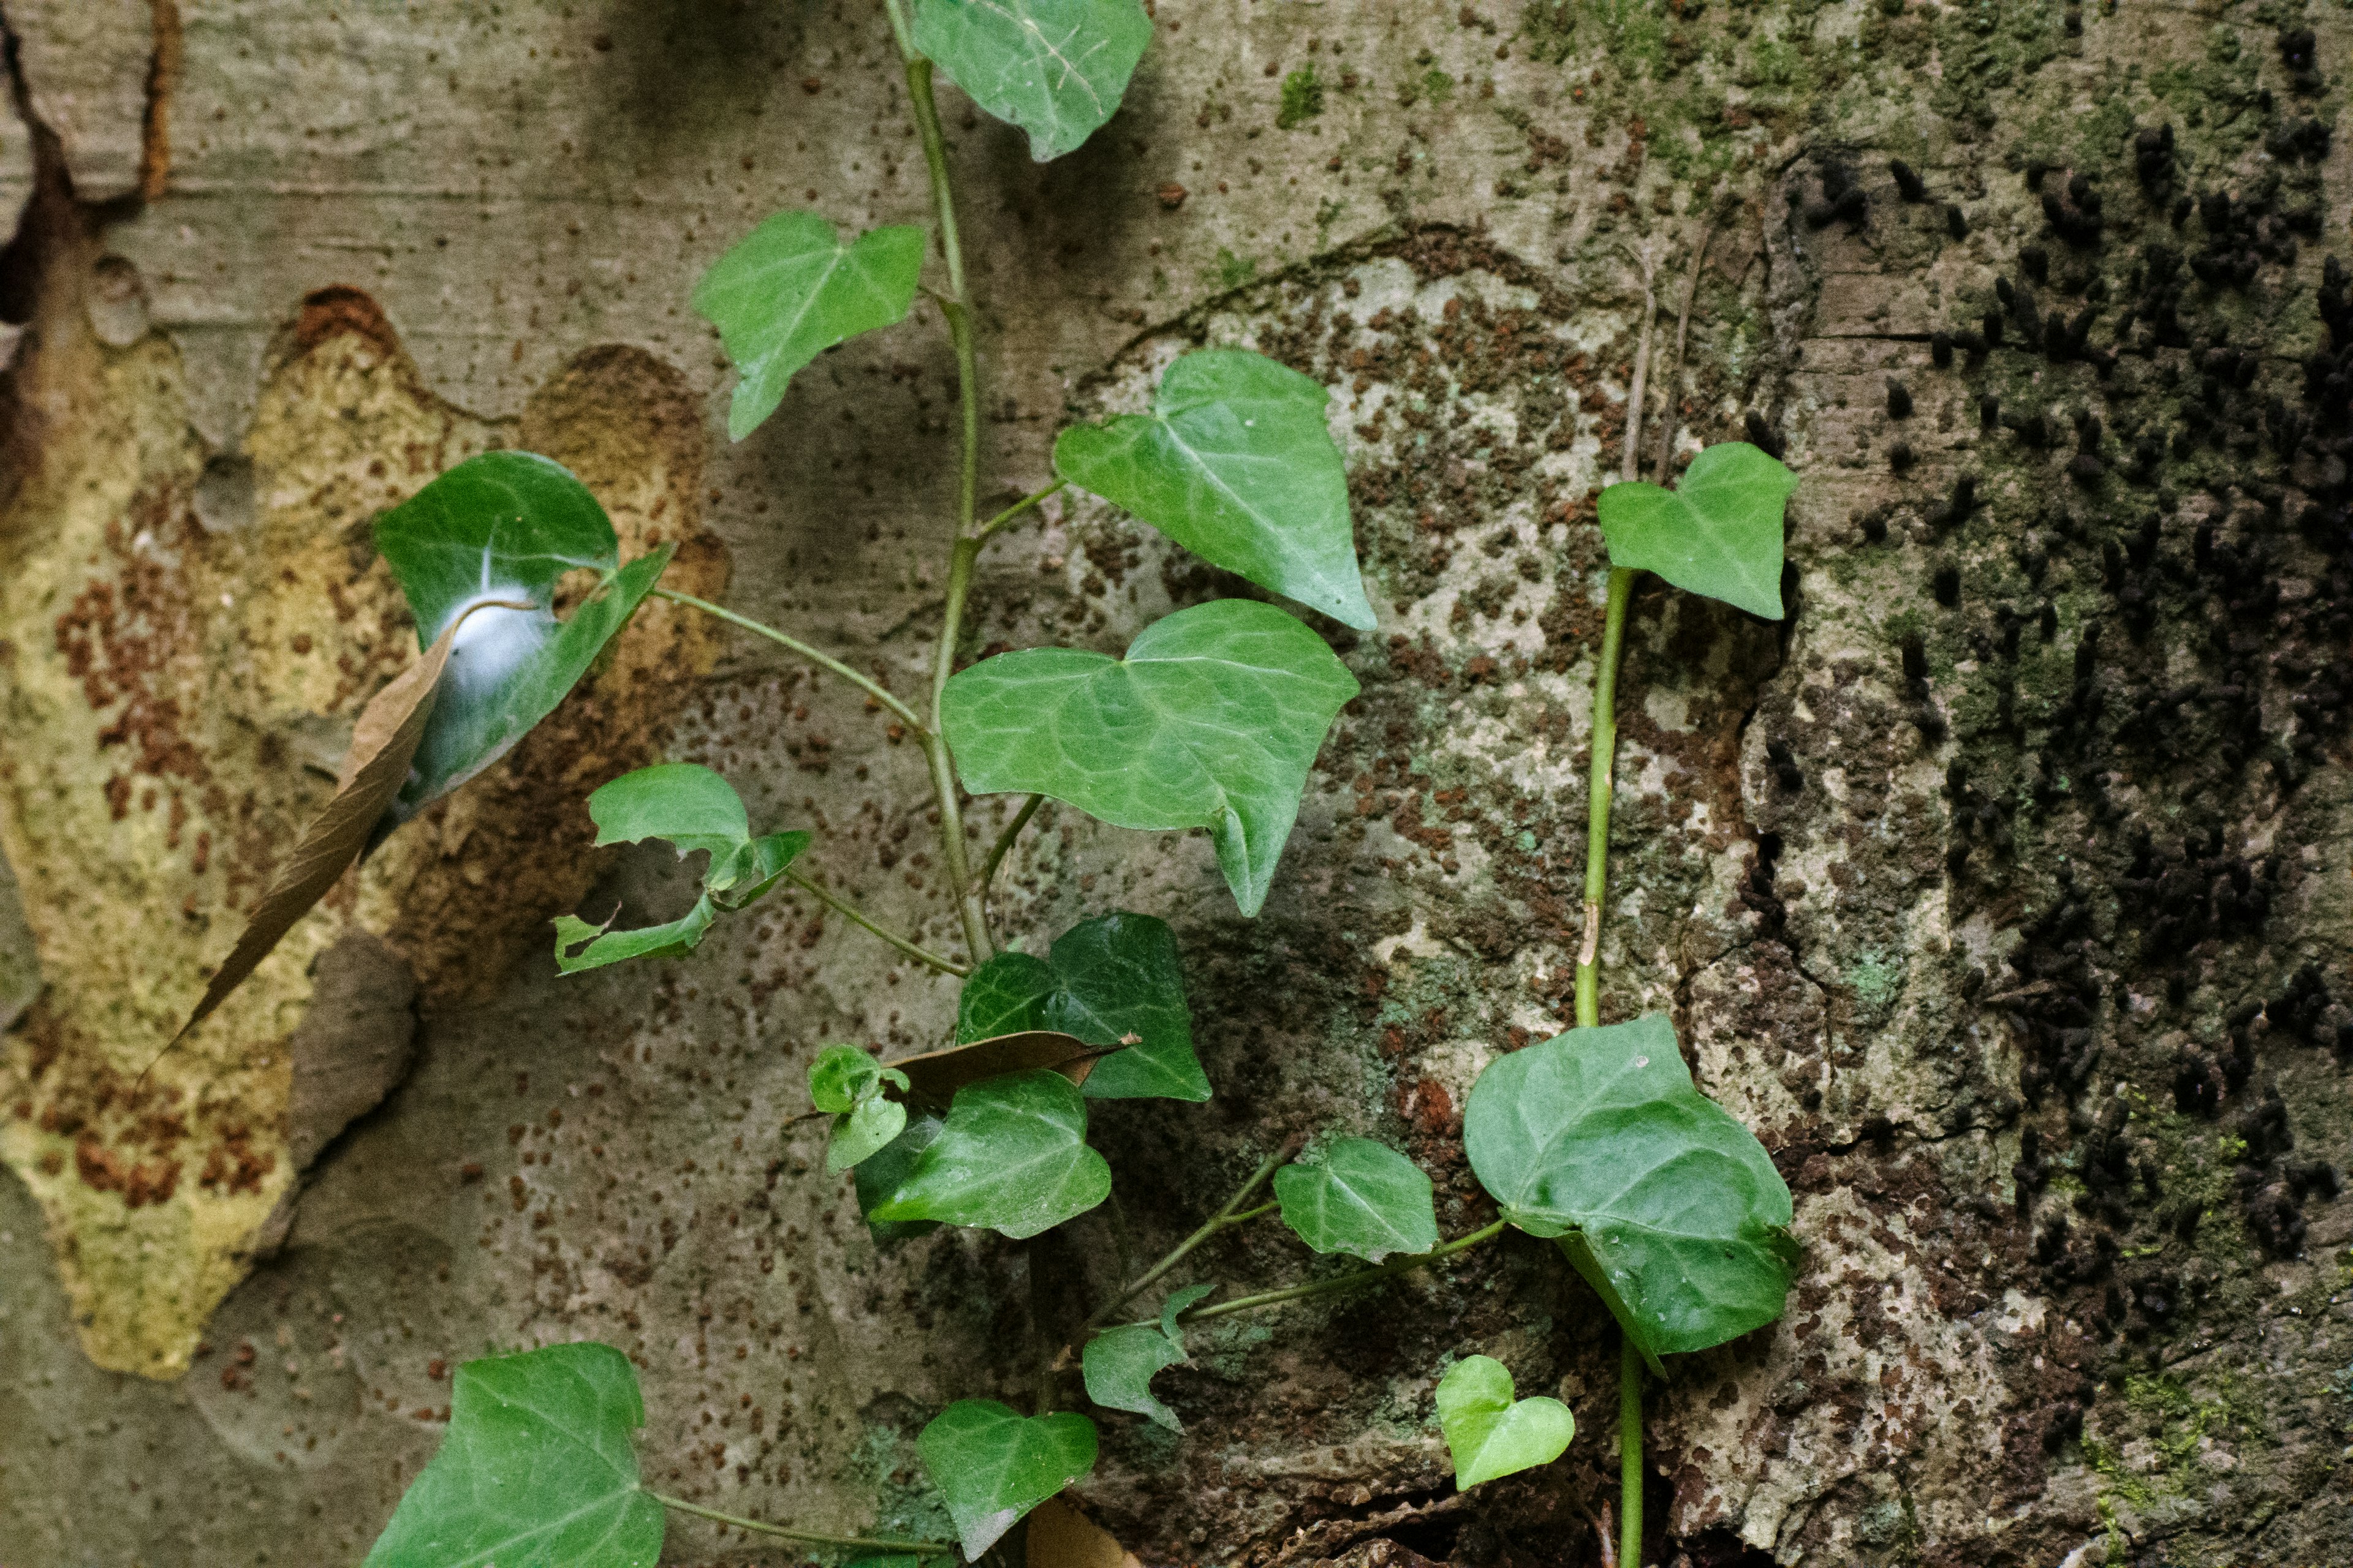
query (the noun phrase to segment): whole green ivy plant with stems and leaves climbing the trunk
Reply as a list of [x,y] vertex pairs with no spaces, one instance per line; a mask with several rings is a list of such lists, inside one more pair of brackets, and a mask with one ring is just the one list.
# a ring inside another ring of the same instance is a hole
[[[299,842],[198,1016],[353,858],[553,712],[638,604],[659,595],[831,672],[915,741],[960,943],[941,952],[859,910],[807,870],[824,853],[812,832],[753,832],[753,813],[720,773],[666,762],[607,780],[586,811],[598,844],[666,842],[678,856],[701,856],[694,905],[635,929],[560,917],[558,971],[692,961],[722,914],[779,884],[816,898],[960,992],[953,1037],[934,1051],[885,1063],[833,1044],[814,1056],[807,1084],[812,1117],[828,1124],[826,1171],[849,1182],[882,1244],[941,1225],[1026,1239],[1111,1194],[1111,1161],[1089,1145],[1092,1103],[1198,1103],[1212,1084],[1193,1048],[1172,929],[1104,910],[1042,952],[1005,947],[988,910],[995,867],[1045,802],[1118,827],[1200,827],[1238,910],[1254,917],[1315,752],[1358,693],[1318,621],[1304,616],[1358,630],[1377,621],[1329,395],[1245,348],[1179,355],[1148,409],[1064,430],[1054,477],[981,517],[979,355],[934,71],[1021,127],[1035,158],[1059,158],[1118,110],[1151,21],[1136,0],[885,0],[885,14],[929,172],[929,226],[845,237],[824,214],[784,212],[727,249],[692,303],[736,369],[734,440],[755,437],[788,407],[793,376],[816,355],[904,322],[918,296],[936,303],[960,378],[958,505],[946,520],[946,592],[925,691],[901,696],[786,628],[664,588],[668,552],[619,559],[595,496],[548,458],[494,451],[459,463],[376,524],[424,656],[362,715],[327,816]],[[1445,1267],[1511,1229],[1553,1239],[1621,1326],[1621,1507],[1633,1542],[1626,1561],[1640,1561],[1640,1375],[1664,1371],[1668,1354],[1772,1321],[1795,1244],[1786,1185],[1755,1138],[1697,1091],[1673,1025],[1647,1016],[1600,1027],[1617,670],[1638,571],[1779,616],[1791,484],[1777,461],[1734,444],[1699,454],[1675,489],[1602,491],[1612,571],[1595,665],[1577,1027],[1489,1065],[1464,1121],[1471,1168],[1501,1218],[1442,1239],[1431,1178],[1405,1152],[1341,1131],[1285,1143],[1184,1241],[1094,1305],[1071,1349],[1096,1410],[1181,1432],[1153,1380],[1186,1363],[1200,1324]],[[1299,609],[1209,599],[1146,625],[1122,654],[1040,646],[965,663],[984,548],[1066,487]],[[586,592],[558,616],[565,578]],[[969,842],[967,792],[1026,795],[986,853]],[[1214,1276],[1181,1276],[1202,1246],[1266,1215],[1304,1244],[1306,1279],[1228,1291]],[[1122,1321],[1134,1302],[1158,1307]],[[1508,1368],[1480,1354],[1449,1363],[1433,1413],[1461,1488],[1560,1458],[1577,1429],[1567,1406],[1520,1399]],[[635,1373],[609,1347],[555,1345],[464,1366],[442,1448],[369,1563],[652,1563],[668,1512],[894,1563],[972,1561],[1085,1479],[1099,1441],[1094,1418],[1056,1410],[1045,1394],[1028,1413],[995,1399],[948,1403],[915,1448],[955,1540],[922,1540],[812,1533],[652,1493],[631,1448],[640,1422]]]

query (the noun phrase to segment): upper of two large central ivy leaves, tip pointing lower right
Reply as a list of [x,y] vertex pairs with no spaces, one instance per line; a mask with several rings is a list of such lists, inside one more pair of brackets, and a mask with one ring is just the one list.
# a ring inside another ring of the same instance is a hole
[[1348,473],[1311,376],[1242,348],[1184,355],[1151,414],[1071,425],[1054,473],[1207,562],[1372,630]]

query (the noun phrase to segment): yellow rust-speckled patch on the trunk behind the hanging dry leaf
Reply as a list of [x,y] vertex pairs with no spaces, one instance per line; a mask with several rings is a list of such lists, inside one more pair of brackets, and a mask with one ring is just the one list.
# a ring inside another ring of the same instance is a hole
[[584,355],[520,428],[480,421],[421,386],[367,296],[332,289],[273,353],[242,454],[207,468],[184,402],[165,343],[106,355],[75,435],[0,512],[0,853],[47,980],[0,1039],[0,1159],[42,1204],[87,1354],[158,1378],[186,1371],[299,1178],[294,1056],[334,1051],[296,1034],[320,954],[381,938],[431,1016],[544,947],[595,875],[581,797],[659,755],[713,658],[704,625],[642,611],[555,717],[165,1053],[332,792],[358,710],[416,656],[372,517],[529,442],[600,494],[624,555],[678,543],[668,581],[725,583],[696,512],[699,409],[642,353]]

